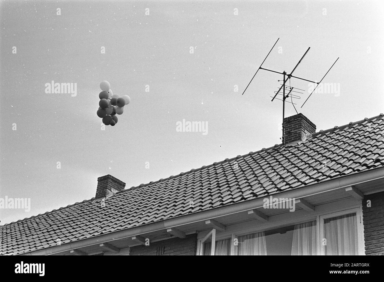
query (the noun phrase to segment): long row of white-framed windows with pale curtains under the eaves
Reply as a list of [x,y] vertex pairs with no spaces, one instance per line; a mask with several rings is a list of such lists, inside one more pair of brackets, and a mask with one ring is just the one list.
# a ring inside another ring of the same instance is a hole
[[[245,227],[250,230],[250,226]],[[200,240],[199,254],[204,256],[364,254],[361,206],[335,213],[313,214],[310,221],[292,222],[290,225],[279,227],[267,223],[263,227],[262,230],[252,233],[240,233],[241,230],[237,234],[220,233],[218,239],[216,230],[212,229]],[[215,243],[214,250],[212,242]]]

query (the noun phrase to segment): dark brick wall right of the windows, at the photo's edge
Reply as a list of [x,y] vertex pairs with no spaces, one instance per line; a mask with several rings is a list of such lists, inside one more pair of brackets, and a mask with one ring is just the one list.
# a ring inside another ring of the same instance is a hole
[[[371,207],[367,201],[371,200]],[[384,192],[366,195],[362,202],[366,255],[384,255]]]

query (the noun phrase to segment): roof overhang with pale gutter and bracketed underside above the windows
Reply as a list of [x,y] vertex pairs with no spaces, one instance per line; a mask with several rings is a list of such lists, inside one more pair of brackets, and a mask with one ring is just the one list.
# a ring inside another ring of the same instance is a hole
[[[384,167],[380,167],[367,172],[354,173],[333,180],[275,193],[273,196],[299,199],[299,206],[310,210],[313,206],[316,206],[316,204],[321,203],[321,201],[327,200],[326,197],[324,198],[324,195],[329,195],[333,201],[336,201],[338,198],[355,197],[358,199],[359,197],[361,198],[362,195],[384,191],[383,180]],[[244,218],[249,218],[250,216],[259,217],[260,220],[263,220],[263,215],[264,219],[265,216],[268,216],[268,214],[264,213],[265,210],[263,211],[264,199],[265,197],[261,197],[255,200],[230,204],[220,208],[123,229],[58,246],[51,246],[22,255],[71,254],[71,251],[74,253],[73,250],[91,254],[103,249],[111,249],[113,252],[117,252],[119,247],[142,244],[143,242],[141,240],[144,237],[156,238],[155,241],[160,241],[162,239],[182,237],[186,234],[196,233],[196,231],[206,230],[212,228],[212,226],[215,227],[215,225],[217,225],[216,228],[222,229],[225,228],[225,221],[234,220],[233,215],[237,215],[236,220],[241,220],[240,218],[242,216]],[[322,200],[320,201],[320,199]],[[263,211],[263,213],[258,211]],[[273,212],[276,213],[275,210],[268,210],[268,213]],[[218,218],[220,218],[220,221],[215,221],[215,219]]]

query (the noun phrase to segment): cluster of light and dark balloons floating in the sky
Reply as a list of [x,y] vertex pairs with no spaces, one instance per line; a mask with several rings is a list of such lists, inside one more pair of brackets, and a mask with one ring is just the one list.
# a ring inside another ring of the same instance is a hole
[[120,97],[118,94],[113,94],[111,84],[106,80],[100,83],[100,89],[103,91],[99,94],[97,115],[103,119],[103,124],[114,126],[118,123],[116,114],[121,115],[124,112],[124,106],[131,102],[131,98],[128,95]]

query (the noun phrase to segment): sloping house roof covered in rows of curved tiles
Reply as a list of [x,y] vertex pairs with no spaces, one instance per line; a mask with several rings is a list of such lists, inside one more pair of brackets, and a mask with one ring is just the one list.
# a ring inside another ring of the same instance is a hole
[[[0,226],[0,254],[22,254],[305,187],[384,166],[384,115]],[[324,163],[325,162],[325,163]],[[191,205],[190,203],[192,203]]]

